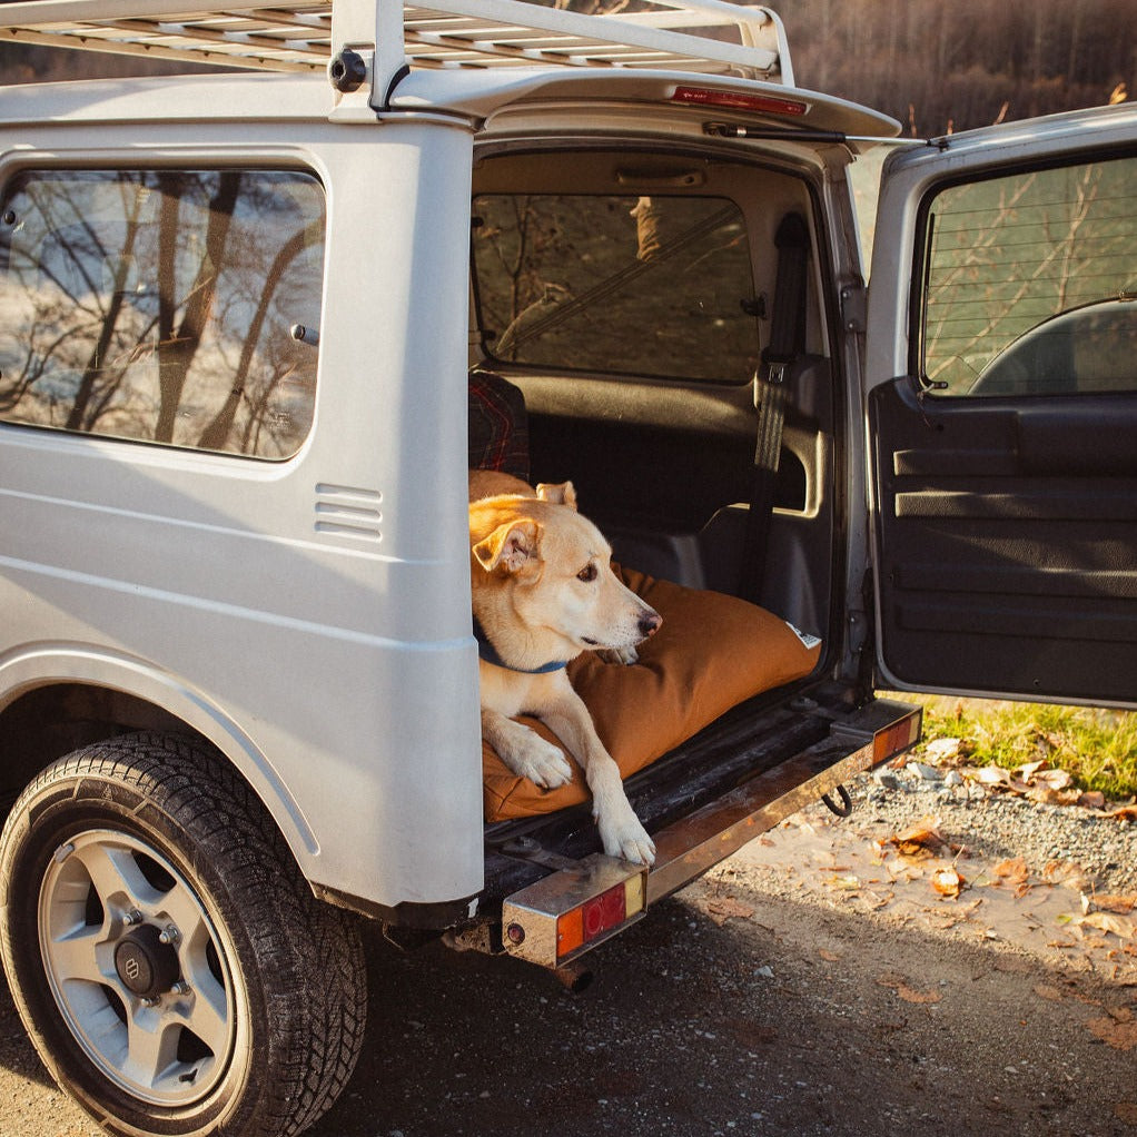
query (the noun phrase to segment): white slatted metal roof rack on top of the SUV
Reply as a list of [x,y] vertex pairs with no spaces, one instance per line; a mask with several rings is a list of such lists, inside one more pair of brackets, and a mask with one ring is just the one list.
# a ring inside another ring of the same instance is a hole
[[238,0],[217,9],[194,9],[192,0],[17,0],[0,3],[0,42],[300,72],[329,68],[348,49],[352,64],[373,60],[376,106],[408,67],[650,67],[792,85],[785,32],[770,9],[729,0],[638,7],[645,10],[583,15],[540,0]]

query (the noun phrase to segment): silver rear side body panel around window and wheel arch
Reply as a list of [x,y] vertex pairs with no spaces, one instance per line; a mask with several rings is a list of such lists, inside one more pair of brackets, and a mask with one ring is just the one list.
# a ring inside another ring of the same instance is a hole
[[[450,901],[482,882],[465,421],[453,409],[466,274],[446,251],[466,241],[470,135],[408,122],[372,126],[360,148],[359,130],[316,123],[300,146],[294,127],[204,123],[176,148],[160,127],[116,128],[114,147],[83,127],[6,132],[5,173],[307,167],[330,221],[317,428],[293,458],[0,425],[5,659],[19,661],[2,699],[61,674],[141,698],[173,689],[264,794],[306,875],[379,904]],[[400,397],[405,385],[423,397]]]

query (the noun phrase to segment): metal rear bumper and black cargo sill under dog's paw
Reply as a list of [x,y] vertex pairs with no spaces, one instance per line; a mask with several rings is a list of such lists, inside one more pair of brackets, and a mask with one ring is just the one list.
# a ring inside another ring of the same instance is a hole
[[[650,871],[596,852],[591,811],[581,806],[488,829],[485,888],[478,896],[384,907],[317,883],[313,890],[412,937],[449,930],[456,946],[504,947],[533,963],[563,966],[747,841],[920,738],[922,711],[913,704],[877,699],[838,711],[805,702],[806,709],[773,706],[728,716],[658,764],[671,770],[629,779],[632,803],[656,845]],[[637,885],[629,887],[631,881]],[[558,951],[561,918],[620,885],[637,898],[626,918],[571,952]],[[499,936],[498,929],[513,935]]]

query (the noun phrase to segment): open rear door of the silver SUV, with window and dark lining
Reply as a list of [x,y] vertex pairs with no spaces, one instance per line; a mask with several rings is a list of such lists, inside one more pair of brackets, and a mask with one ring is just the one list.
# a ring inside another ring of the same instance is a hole
[[889,157],[866,387],[881,684],[1137,704],[1137,107]]

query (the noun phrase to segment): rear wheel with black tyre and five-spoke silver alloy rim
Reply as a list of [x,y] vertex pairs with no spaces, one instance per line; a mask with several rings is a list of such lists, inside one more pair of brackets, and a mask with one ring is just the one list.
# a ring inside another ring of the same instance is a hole
[[0,838],[0,893],[24,1024],[111,1132],[299,1134],[347,1081],[358,929],[207,747],[135,735],[48,767]]

